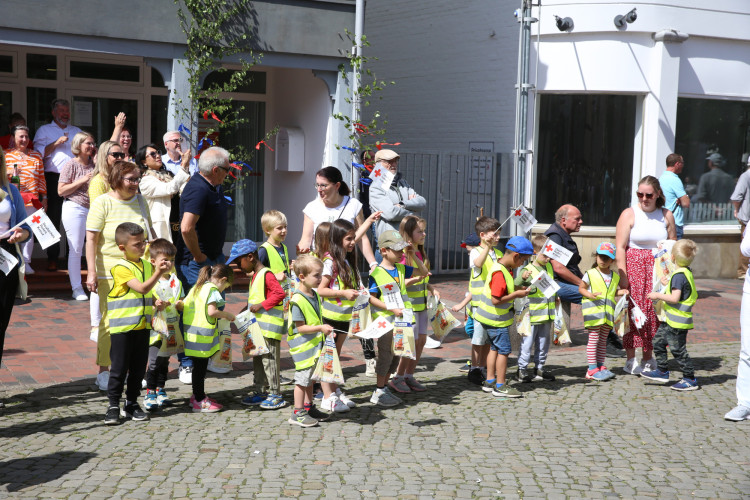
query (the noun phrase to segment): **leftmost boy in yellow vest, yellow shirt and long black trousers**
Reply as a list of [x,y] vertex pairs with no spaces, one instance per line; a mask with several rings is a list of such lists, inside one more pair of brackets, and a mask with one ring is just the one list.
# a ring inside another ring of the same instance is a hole
[[146,412],[138,405],[141,381],[148,361],[148,339],[153,307],[164,308],[160,300],[153,301],[151,289],[161,275],[171,269],[169,262],[162,261],[154,268],[143,258],[146,237],[143,227],[132,222],[123,222],[115,229],[115,242],[123,253],[110,272],[112,290],[107,296],[107,320],[112,339],[107,396],[109,407],[104,423],[120,423],[120,398],[127,377],[125,392],[125,415],[132,420],[148,420]]

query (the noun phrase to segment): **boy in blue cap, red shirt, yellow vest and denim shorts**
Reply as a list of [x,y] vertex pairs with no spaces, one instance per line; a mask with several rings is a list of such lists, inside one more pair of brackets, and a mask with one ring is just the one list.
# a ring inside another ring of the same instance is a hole
[[474,321],[479,321],[490,338],[487,355],[487,380],[482,384],[484,392],[493,396],[520,398],[518,390],[506,383],[510,346],[510,325],[513,324],[513,301],[526,297],[528,289],[515,289],[513,270],[520,267],[534,254],[531,242],[522,236],[513,236],[505,245],[505,254],[490,269],[482,290],[479,307],[474,310]]

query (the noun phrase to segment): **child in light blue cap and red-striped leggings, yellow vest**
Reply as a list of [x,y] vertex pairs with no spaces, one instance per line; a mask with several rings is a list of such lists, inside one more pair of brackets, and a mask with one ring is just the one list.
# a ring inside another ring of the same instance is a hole
[[581,293],[581,312],[583,326],[589,334],[586,346],[588,370],[586,379],[602,382],[615,377],[615,374],[604,366],[607,354],[607,337],[615,324],[616,297],[628,293],[619,289],[620,275],[612,272],[610,266],[615,260],[615,246],[605,241],[596,248],[594,267],[583,275],[583,283],[578,287]]

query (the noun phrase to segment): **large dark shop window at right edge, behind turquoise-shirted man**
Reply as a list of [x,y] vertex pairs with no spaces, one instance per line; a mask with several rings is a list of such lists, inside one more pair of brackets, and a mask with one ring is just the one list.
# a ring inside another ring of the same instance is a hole
[[[685,223],[736,224],[729,197],[750,153],[750,103],[680,98],[675,136],[690,196]],[[709,169],[709,156],[716,168]]]

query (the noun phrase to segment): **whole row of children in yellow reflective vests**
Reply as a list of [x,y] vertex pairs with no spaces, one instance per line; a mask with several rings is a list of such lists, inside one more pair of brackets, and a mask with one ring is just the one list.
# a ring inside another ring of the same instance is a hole
[[[174,351],[169,347],[174,348],[182,341],[181,326],[184,352],[193,359],[190,408],[201,413],[222,409],[221,404],[206,395],[205,377],[209,359],[220,348],[219,320],[235,320],[234,314],[224,310],[222,293],[232,285],[232,262],[251,275],[246,308],[255,315],[268,347],[266,354],[253,359],[255,390],[242,399],[242,404],[262,409],[286,406],[280,389],[281,342],[286,337],[295,367],[289,423],[314,426],[333,412],[349,411],[356,406],[341,387],[322,383],[321,408],[317,408],[313,371],[326,337],[335,338],[336,351],[341,354],[355,300],[363,293],[369,293],[373,320],[406,322],[413,325],[415,336],[415,352],[408,357],[394,355],[393,330],[377,339],[376,388],[370,401],[390,407],[402,402],[395,393],[426,390],[414,377],[414,371],[427,338],[428,296],[439,299],[438,291],[429,284],[429,260],[424,248],[426,222],[409,216],[402,221],[400,231],[379,235],[382,262],[371,270],[365,286],[358,272],[356,242],[376,218],[377,214],[359,228],[342,219],[322,223],[315,232],[314,252],[290,261],[283,243],[286,217],[279,211],[268,211],[261,218],[267,241],[260,247],[250,240],[236,242],[226,264],[201,269],[195,286],[187,294],[172,272],[176,254],[172,243],[157,239],[147,248],[140,226],[132,223],[118,226],[115,239],[123,259],[111,270],[114,286],[108,296],[112,368],[105,423],[119,423],[121,413],[133,420],[148,419],[137,402],[146,371],[146,410],[170,404],[164,390],[169,356]],[[518,398],[522,394],[506,378],[511,353],[510,327],[515,321],[514,301],[528,298],[531,328],[521,342],[516,377],[521,382],[531,382],[555,379],[544,365],[558,299],[529,286],[540,273],[553,278],[550,259],[542,253],[546,238],[537,235],[529,241],[514,236],[502,252],[496,248],[499,229],[499,221],[481,217],[475,225],[478,236],[471,235],[462,245],[469,251],[471,261],[469,292],[453,310],[470,306],[465,327],[472,344],[469,380],[494,396]],[[149,258],[145,259],[147,250]],[[673,386],[678,390],[697,388],[685,350],[687,331],[693,327],[692,306],[697,298],[688,267],[695,253],[692,241],[677,242],[672,254],[678,268],[664,283],[666,293],[649,296],[665,302],[666,321],[660,325],[654,342],[657,366],[642,376],[669,380],[666,357],[669,345],[683,371],[683,380]],[[532,256],[534,260],[527,264]],[[627,293],[619,287],[619,274],[610,270],[614,258],[615,247],[611,243],[600,244],[596,264],[586,272],[580,287],[584,326],[589,333],[585,376],[594,381],[614,377],[604,366],[606,339],[614,325],[616,297]],[[398,307],[393,306],[393,297],[384,297],[385,293],[398,295]],[[154,311],[164,311],[166,329],[162,332],[151,328]],[[532,351],[533,371],[529,366]],[[126,401],[121,412],[120,399],[126,379]]]

